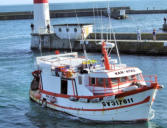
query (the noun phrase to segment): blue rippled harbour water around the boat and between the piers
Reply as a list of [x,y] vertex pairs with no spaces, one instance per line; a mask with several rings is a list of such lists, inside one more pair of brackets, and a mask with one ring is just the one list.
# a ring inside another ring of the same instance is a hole
[[[151,1],[151,0],[149,0]],[[127,20],[112,20],[115,31],[135,31],[136,25],[143,31],[158,29],[163,15],[135,15]],[[70,20],[69,20],[70,19]],[[97,17],[97,20],[99,18]],[[149,21],[152,21],[151,23]],[[76,18],[53,19],[52,24],[77,22]],[[79,18],[79,22],[92,22],[93,18]],[[104,18],[104,26],[108,19]],[[161,90],[153,109],[155,118],[147,123],[137,124],[96,124],[76,117],[71,117],[29,100],[31,72],[35,69],[35,57],[39,53],[30,50],[30,24],[32,20],[0,21],[0,128],[166,128],[167,100],[166,91]],[[96,23],[99,27],[99,23]],[[147,28],[147,26],[149,26]],[[101,27],[98,28],[100,31]],[[120,30],[121,29],[121,30]],[[148,30],[147,30],[148,29]],[[52,53],[47,53],[52,54]],[[90,57],[99,59],[100,54],[89,53]],[[115,57],[115,55],[113,55]],[[167,85],[166,56],[121,55],[122,62],[129,66],[137,66],[145,75],[157,74],[160,84]]]

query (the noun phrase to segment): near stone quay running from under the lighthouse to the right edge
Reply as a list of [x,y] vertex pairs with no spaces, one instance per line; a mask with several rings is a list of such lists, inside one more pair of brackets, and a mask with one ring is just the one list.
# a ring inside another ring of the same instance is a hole
[[[136,33],[116,33],[117,45],[121,53],[145,54],[145,55],[167,55],[167,33],[159,33],[153,40],[152,33],[142,33],[141,40],[137,40]],[[95,39],[96,37],[96,39]],[[111,40],[108,38],[111,37]],[[103,34],[103,40],[114,43],[113,35]],[[88,52],[101,52],[101,33],[90,33],[85,39]],[[32,34],[32,50],[70,50],[82,51],[82,40],[60,39],[56,34]],[[70,47],[71,45],[71,47]],[[113,52],[116,52],[113,49]]]

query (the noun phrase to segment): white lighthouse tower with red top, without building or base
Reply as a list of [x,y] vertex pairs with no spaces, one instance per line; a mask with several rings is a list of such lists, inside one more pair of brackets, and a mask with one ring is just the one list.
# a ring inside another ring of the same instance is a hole
[[34,0],[34,32],[47,33],[50,27],[48,0]]

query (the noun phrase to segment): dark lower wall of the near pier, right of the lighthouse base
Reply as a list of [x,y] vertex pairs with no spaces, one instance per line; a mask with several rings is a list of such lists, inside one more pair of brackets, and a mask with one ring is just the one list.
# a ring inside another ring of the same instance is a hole
[[[91,47],[88,45],[89,52],[100,52],[101,49],[96,47],[94,40],[88,40]],[[114,43],[114,40],[110,40]],[[100,42],[98,40],[97,42]],[[78,42],[79,43],[79,42]],[[126,54],[144,54],[144,55],[167,55],[167,42],[154,40],[117,40],[120,53]],[[114,52],[116,50],[114,49]]]

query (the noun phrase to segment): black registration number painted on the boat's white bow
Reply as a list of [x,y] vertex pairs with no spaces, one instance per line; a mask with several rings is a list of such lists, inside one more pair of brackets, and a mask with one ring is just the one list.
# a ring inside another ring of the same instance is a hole
[[113,101],[102,102],[102,105],[103,107],[108,107],[108,106],[124,105],[124,104],[133,103],[133,102],[134,102],[133,98],[128,98],[128,99],[118,99]]

